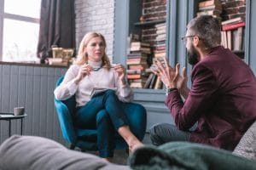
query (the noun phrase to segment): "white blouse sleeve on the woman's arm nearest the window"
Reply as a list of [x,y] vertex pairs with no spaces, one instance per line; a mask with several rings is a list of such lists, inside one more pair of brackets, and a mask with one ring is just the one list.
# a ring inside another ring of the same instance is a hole
[[78,65],[72,65],[65,74],[63,81],[60,86],[55,88],[54,94],[55,99],[69,99],[73,96],[78,90],[78,85],[74,82],[74,78],[77,76],[79,72]]

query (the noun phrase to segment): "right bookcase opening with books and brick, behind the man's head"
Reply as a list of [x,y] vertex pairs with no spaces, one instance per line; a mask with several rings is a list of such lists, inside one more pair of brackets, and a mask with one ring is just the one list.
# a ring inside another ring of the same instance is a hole
[[211,14],[221,21],[221,44],[244,59],[246,1],[201,0],[197,16]]

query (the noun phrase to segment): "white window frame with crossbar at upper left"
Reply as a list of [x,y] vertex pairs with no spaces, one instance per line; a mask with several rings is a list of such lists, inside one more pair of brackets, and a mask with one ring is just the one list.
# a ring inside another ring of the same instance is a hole
[[[40,19],[37,19],[37,18],[27,17],[20,14],[5,13],[4,1],[6,0],[0,0],[0,61],[3,61],[3,20],[4,19],[23,21],[23,22],[34,23],[38,25],[40,24]],[[13,61],[13,62],[16,62],[16,61]]]

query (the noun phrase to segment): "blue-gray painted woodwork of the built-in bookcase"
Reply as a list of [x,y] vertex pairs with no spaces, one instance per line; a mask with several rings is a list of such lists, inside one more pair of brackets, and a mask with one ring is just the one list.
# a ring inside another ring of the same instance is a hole
[[[142,2],[131,0],[115,2],[114,62],[126,65],[127,42],[124,40],[131,32],[140,33],[143,27],[147,27],[147,24],[143,26],[143,23],[138,23],[142,15]],[[186,48],[180,37],[184,36],[189,20],[195,17],[199,2],[201,1],[166,1],[166,56],[170,65],[175,65],[178,62],[181,67],[186,66],[188,75],[190,75],[192,68],[187,64]],[[256,11],[253,8],[256,8],[256,1],[246,0],[245,48],[244,50],[234,51],[234,53],[242,56],[256,74],[256,48],[253,47],[256,40],[252,38],[256,37],[256,23],[253,22],[253,20],[256,20]],[[151,24],[148,24],[148,26],[151,26]],[[163,90],[134,88],[133,91],[135,102],[144,105],[148,111],[148,127],[157,122],[172,122],[172,117],[164,105],[166,96]]]

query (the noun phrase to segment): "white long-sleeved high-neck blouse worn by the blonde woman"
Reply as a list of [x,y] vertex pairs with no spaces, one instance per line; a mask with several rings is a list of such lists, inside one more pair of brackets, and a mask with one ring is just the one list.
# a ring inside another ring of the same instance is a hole
[[[98,68],[102,63],[89,62],[94,68]],[[61,82],[60,86],[55,88],[55,99],[68,99],[76,94],[77,106],[83,106],[90,101],[90,93],[92,88],[117,88],[116,94],[119,100],[123,102],[131,102],[133,92],[129,84],[119,81],[118,74],[111,68],[101,68],[98,71],[91,71],[89,76],[85,76],[78,84],[74,82],[74,78],[79,74],[80,65],[71,65]]]

